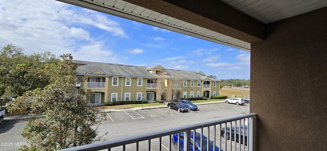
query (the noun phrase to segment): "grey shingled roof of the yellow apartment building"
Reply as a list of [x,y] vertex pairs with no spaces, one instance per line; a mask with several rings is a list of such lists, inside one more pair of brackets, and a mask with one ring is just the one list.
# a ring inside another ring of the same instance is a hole
[[[196,71],[166,69],[161,65],[143,67],[143,66],[133,66],[133,65],[88,62],[88,61],[79,61],[79,60],[73,60],[72,62],[78,65],[76,69],[76,73],[79,75],[106,75],[110,77],[135,77],[135,78],[155,79],[158,77],[158,75],[152,74],[148,70],[161,69],[167,71],[166,74],[167,79],[170,79],[171,76],[174,73],[176,73],[181,77],[181,79],[184,80],[218,81],[216,79],[204,77],[203,75],[198,74],[198,72]],[[95,71],[97,72],[95,73]]]

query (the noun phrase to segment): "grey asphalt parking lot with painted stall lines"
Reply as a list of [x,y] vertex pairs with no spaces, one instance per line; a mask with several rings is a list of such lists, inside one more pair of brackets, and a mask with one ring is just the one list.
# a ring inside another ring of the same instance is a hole
[[[235,104],[215,103],[198,105],[198,108],[199,110],[188,111],[185,113],[180,113],[168,109],[167,107],[107,112],[107,120],[105,120],[98,129],[99,135],[104,135],[108,132],[108,134],[103,138],[106,140],[115,140],[249,113],[249,104],[237,106]],[[8,126],[9,128],[6,132],[0,133],[0,142],[8,142],[9,140],[26,142],[26,140],[19,135],[19,132],[27,122],[28,120],[6,120],[2,125],[0,125],[0,127],[6,128]],[[204,131],[203,134],[207,134],[207,132]],[[213,132],[209,132],[209,134],[211,140],[216,139],[216,142],[220,142],[218,132],[216,138],[213,138]],[[221,138],[221,140],[222,146],[224,146],[224,138]],[[158,143],[158,140],[151,140],[151,144]],[[227,144],[228,143],[230,143],[229,140],[227,140]],[[232,142],[232,144],[233,143],[234,142]],[[162,138],[161,150],[169,150],[169,145],[169,138]],[[236,145],[238,145],[238,143]],[[130,149],[134,150],[132,148],[135,147],[135,144],[127,145],[127,150],[129,150],[128,147],[131,147]],[[147,145],[143,146],[142,143],[140,143],[139,148],[139,150],[147,150]],[[17,150],[18,146],[2,146],[2,149]],[[121,148],[112,150],[121,150]],[[151,146],[151,150],[158,150],[157,145],[153,147]]]

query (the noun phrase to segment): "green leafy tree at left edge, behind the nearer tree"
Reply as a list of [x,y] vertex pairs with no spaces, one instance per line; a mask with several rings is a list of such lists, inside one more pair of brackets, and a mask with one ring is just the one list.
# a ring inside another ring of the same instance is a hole
[[43,88],[49,84],[49,77],[38,72],[49,63],[60,59],[50,52],[32,54],[22,53],[23,49],[14,44],[7,44],[0,52],[0,96],[15,98],[28,90]]

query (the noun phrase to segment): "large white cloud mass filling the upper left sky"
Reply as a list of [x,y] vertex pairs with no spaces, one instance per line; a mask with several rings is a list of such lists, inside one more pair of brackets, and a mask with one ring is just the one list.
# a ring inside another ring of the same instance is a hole
[[99,48],[99,54],[112,53],[103,49],[103,42],[90,37],[94,27],[116,37],[128,37],[118,22],[103,14],[58,1],[13,0],[0,7],[0,46],[13,43],[24,48],[26,55],[48,51],[56,56],[72,53],[74,58],[81,58],[76,52],[86,53],[86,49],[92,52],[89,55],[95,54],[96,50],[86,45]]

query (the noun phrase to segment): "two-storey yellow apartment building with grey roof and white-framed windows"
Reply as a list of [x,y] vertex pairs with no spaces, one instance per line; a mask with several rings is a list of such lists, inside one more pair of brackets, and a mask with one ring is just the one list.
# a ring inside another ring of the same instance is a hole
[[[219,81],[196,71],[167,69],[161,65],[132,66],[73,60],[81,88],[93,91],[90,104],[120,100],[172,100],[185,97],[219,95]],[[157,86],[161,80],[164,87]],[[177,82],[178,81],[178,82]],[[178,84],[178,86],[173,86]],[[164,92],[158,95],[159,89]],[[173,90],[179,92],[173,96]]]

